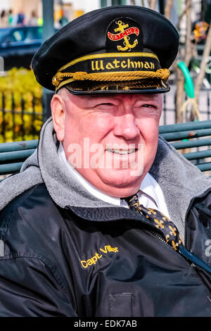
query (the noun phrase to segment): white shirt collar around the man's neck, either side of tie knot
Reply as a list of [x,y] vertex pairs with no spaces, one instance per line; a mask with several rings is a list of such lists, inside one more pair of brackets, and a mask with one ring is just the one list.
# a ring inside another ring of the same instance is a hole
[[[115,206],[122,206],[122,207],[127,206],[127,202],[124,199],[120,199],[115,196],[110,196],[108,194],[105,194],[105,193],[101,192],[99,189],[97,189],[96,187],[94,187],[94,185],[91,185],[90,182],[85,180],[85,178],[82,177],[82,175],[80,175],[77,172],[77,170],[75,170],[75,168],[73,168],[72,165],[66,159],[65,151],[63,149],[63,145],[61,144],[61,142],[58,147],[58,157],[63,162],[63,164],[65,164],[68,167],[70,174],[72,176],[74,176],[75,179],[78,182],[80,182],[80,184],[85,189],[87,189],[87,191],[89,193],[91,193],[93,196],[95,196],[96,198],[101,199],[105,202],[108,202],[108,204],[113,204]],[[158,204],[156,203],[158,196],[154,192],[155,191],[154,187],[156,184],[158,185],[158,183],[155,181],[155,179],[149,173],[147,173],[146,176],[143,178],[143,181],[141,182],[141,187],[138,192],[139,199],[141,198],[141,196],[146,196],[146,198],[150,199],[151,201],[153,201],[153,203],[156,206],[158,206]]]

